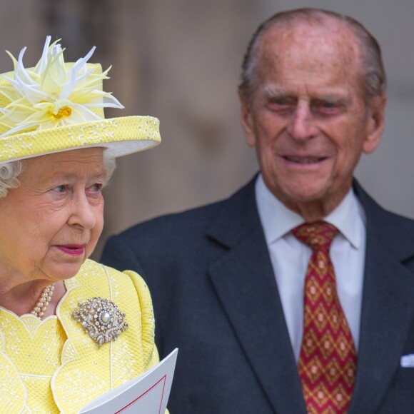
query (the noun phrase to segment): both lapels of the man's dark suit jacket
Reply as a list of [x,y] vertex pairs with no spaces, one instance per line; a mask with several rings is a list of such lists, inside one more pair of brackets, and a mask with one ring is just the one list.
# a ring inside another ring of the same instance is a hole
[[[384,211],[358,183],[354,189],[367,216],[367,246],[350,414],[378,410],[414,317],[414,276],[404,263],[413,258],[414,225]],[[253,181],[223,205],[208,235],[228,249],[210,277],[258,383],[276,413],[306,413]]]

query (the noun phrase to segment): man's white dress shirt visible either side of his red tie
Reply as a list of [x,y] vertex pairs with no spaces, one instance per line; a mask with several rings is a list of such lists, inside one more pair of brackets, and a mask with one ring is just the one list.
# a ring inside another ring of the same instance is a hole
[[[293,353],[298,361],[303,334],[303,287],[311,250],[298,241],[291,230],[304,220],[273,196],[262,176],[256,181],[256,203]],[[324,221],[339,230],[330,246],[330,258],[335,269],[339,301],[358,351],[366,234],[363,208],[352,190]]]

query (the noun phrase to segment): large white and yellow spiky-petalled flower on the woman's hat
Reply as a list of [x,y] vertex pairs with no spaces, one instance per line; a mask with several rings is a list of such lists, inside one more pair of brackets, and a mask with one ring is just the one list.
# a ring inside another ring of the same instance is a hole
[[14,78],[3,75],[10,84],[0,87],[0,94],[11,101],[0,108],[0,123],[9,128],[1,136],[100,120],[91,108],[123,108],[111,93],[101,91],[101,82],[108,79],[111,67],[96,74],[86,66],[95,46],[69,66],[59,40],[50,44],[51,36],[46,37],[41,59],[32,69],[24,68],[26,47],[19,60],[7,51],[14,63]]

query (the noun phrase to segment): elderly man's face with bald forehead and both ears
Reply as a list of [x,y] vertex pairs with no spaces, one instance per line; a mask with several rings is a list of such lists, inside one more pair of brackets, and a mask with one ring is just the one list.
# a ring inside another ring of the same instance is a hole
[[279,26],[261,41],[243,128],[266,185],[294,211],[315,203],[332,211],[360,154],[378,146],[385,97],[365,105],[359,61],[355,36],[338,24]]

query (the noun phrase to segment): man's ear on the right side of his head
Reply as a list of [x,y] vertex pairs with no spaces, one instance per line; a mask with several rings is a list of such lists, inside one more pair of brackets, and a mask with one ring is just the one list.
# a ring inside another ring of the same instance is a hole
[[370,103],[368,121],[366,126],[365,141],[363,143],[363,152],[372,153],[378,147],[385,126],[385,105],[387,96],[375,97]]

